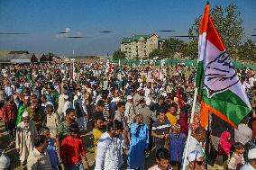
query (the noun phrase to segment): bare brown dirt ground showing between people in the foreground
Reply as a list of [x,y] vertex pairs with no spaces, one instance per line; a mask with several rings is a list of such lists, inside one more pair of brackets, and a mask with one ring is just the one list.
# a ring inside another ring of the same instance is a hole
[[[87,153],[87,159],[90,165],[89,169],[94,169],[93,165],[95,162],[94,159],[94,149],[93,149],[93,136],[91,132],[91,126],[88,127],[88,132],[85,132],[81,135],[84,139],[84,144]],[[11,159],[11,169],[13,170],[23,170],[20,166],[19,155],[15,150],[15,145],[11,143],[11,140],[8,138],[7,133],[5,132],[5,125],[2,121],[0,121],[0,148],[5,149],[5,155],[10,157]],[[146,167],[153,166],[155,164],[155,151],[152,150],[151,152],[146,153]],[[126,169],[126,168],[124,168]]]

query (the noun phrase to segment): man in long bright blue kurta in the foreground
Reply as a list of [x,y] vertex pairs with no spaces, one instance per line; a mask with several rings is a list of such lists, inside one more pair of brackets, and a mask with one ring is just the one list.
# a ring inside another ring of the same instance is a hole
[[135,116],[135,121],[130,127],[132,141],[128,156],[128,165],[130,169],[144,170],[145,150],[148,148],[150,142],[149,129],[143,123],[141,114]]

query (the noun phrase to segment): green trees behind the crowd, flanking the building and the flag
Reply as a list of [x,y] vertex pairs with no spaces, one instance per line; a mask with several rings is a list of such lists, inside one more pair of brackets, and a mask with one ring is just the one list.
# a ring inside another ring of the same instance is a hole
[[[211,18],[215,23],[224,45],[234,60],[256,61],[256,45],[251,40],[244,38],[244,28],[242,27],[241,13],[235,4],[227,7],[215,5],[210,11]],[[198,29],[201,21],[199,16],[188,30],[190,36],[189,43],[183,40],[169,38],[163,43],[162,49],[154,49],[149,58],[190,58],[196,59],[198,56]],[[114,59],[124,59],[124,53],[119,49],[114,51]]]

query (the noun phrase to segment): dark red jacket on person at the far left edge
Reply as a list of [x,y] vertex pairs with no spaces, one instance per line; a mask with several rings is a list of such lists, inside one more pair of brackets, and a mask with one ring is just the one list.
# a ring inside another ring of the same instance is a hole
[[18,114],[17,106],[15,103],[7,104],[2,108],[1,118],[3,121],[16,121]]

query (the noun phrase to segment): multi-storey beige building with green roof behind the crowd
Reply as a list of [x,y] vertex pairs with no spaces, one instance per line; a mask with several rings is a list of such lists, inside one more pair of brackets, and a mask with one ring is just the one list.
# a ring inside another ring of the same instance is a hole
[[161,49],[164,40],[156,34],[133,35],[121,40],[121,51],[127,59],[148,58],[153,49]]

